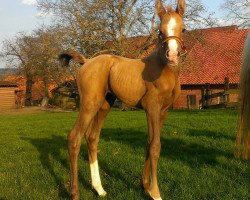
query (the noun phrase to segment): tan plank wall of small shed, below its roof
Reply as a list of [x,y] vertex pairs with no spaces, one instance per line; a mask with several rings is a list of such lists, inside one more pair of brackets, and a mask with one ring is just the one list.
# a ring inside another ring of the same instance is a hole
[[0,87],[0,110],[15,108],[15,87]]

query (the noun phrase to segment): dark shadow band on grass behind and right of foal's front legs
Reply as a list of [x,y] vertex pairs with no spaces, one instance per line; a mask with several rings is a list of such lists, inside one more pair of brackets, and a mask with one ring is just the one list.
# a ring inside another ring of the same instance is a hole
[[[204,130],[198,132],[202,133]],[[207,132],[202,134],[206,136]],[[126,144],[131,148],[136,149],[146,147],[147,134],[136,130],[104,129],[101,138],[105,141],[113,140],[122,144]],[[204,164],[217,165],[218,162],[216,158],[218,156],[224,156],[227,158],[233,157],[230,152],[220,150],[219,147],[205,147],[197,143],[186,142],[183,139],[173,136],[169,136],[169,138],[166,138],[166,136],[162,137],[161,144],[161,157],[179,160],[181,162],[185,162],[191,167],[197,167]]]

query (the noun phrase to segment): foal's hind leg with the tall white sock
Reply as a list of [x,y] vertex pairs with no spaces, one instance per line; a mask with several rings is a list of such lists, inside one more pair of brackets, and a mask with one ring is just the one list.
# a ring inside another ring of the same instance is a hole
[[91,127],[92,131],[89,131],[88,134],[86,134],[92,187],[96,190],[99,196],[105,196],[107,194],[102,187],[101,178],[99,174],[97,147],[98,147],[100,132],[109,111],[110,111],[110,105],[108,104],[107,101],[105,101],[103,106],[100,108],[100,110],[97,112],[97,114],[93,119],[93,124]]

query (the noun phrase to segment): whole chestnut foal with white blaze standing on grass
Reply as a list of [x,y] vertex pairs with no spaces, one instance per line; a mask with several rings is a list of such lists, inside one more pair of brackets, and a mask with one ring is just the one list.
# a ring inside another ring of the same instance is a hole
[[66,65],[72,58],[83,65],[77,72],[80,112],[68,135],[72,199],[79,199],[77,161],[83,136],[88,147],[92,186],[100,196],[106,195],[99,175],[97,146],[104,120],[116,98],[146,112],[148,145],[142,184],[152,199],[161,199],[157,183],[160,131],[167,109],[180,94],[178,57],[184,49],[181,34],[185,0],[178,1],[176,10],[170,7],[166,10],[156,0],[156,10],[161,20],[158,47],[144,59],[114,55],[86,59],[73,51],[59,56]]

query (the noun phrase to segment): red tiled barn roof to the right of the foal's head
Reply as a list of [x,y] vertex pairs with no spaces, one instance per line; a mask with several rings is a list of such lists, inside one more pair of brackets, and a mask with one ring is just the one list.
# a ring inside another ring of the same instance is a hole
[[181,84],[239,83],[242,51],[250,29],[236,26],[192,31],[184,36],[188,55]]

